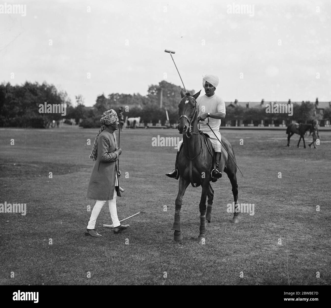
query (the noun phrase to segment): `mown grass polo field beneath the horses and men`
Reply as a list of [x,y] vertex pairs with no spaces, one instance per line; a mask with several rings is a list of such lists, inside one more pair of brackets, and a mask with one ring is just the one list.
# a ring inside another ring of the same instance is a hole
[[152,137],[180,136],[174,129],[121,132],[125,192],[118,198],[118,216],[141,214],[114,235],[102,228],[111,224],[105,205],[96,225],[102,237],[84,236],[87,206],[94,205],[85,197],[93,166],[87,139],[93,145],[96,133],[0,129],[0,203],[26,203],[24,216],[0,213],[0,284],[331,283],[331,132],[320,131],[317,149],[303,149],[302,143],[298,149],[298,135],[286,146],[285,129],[221,131],[244,174],[237,173],[239,202],[254,203],[255,214],[241,213],[240,222],[231,223],[226,205],[233,196],[223,173],[213,183],[205,245],[197,243],[201,188],[189,186],[184,195],[183,241],[175,243],[170,230],[178,181],[165,173],[173,168],[176,149],[153,147]]

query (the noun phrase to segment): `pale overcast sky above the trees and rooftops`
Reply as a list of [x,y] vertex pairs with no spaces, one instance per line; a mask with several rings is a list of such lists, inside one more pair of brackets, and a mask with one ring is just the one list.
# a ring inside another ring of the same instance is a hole
[[[171,49],[196,92],[215,74],[225,101],[331,100],[330,1],[6,3],[25,4],[26,16],[1,13],[0,2],[0,82],[46,81],[92,106],[102,93],[181,85]],[[231,14],[245,4],[250,13]]]

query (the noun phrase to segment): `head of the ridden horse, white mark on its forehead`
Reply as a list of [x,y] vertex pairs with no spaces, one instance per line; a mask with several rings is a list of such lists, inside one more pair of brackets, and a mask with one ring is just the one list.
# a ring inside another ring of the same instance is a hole
[[182,97],[178,108],[179,108],[179,124],[178,131],[180,134],[185,134],[187,129],[191,126],[193,121],[198,116],[197,110],[197,101],[196,99],[200,95],[201,90],[194,94],[193,96],[190,93],[184,93],[183,90],[180,91],[180,96]]

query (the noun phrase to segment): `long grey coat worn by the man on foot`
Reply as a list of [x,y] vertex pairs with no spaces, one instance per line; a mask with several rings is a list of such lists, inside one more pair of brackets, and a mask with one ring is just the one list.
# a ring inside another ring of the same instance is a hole
[[[94,162],[87,189],[89,199],[112,200],[114,197],[118,160],[118,153],[114,153],[116,151],[114,139],[116,140],[116,135],[108,127],[98,136],[98,157]],[[121,196],[118,186],[117,195]]]

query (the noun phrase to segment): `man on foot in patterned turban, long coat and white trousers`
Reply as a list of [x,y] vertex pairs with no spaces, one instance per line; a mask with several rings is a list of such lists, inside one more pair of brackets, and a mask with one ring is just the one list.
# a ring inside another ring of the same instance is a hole
[[93,165],[90,182],[88,184],[87,198],[97,200],[87,226],[85,235],[93,237],[101,236],[95,230],[95,222],[103,205],[108,201],[110,215],[114,225],[114,233],[117,234],[125,230],[129,225],[121,225],[117,217],[116,198],[121,196],[119,192],[116,161],[122,153],[117,148],[115,130],[118,129],[118,117],[115,110],[105,111],[101,116],[102,126],[95,137],[94,145],[90,154],[95,163]]

